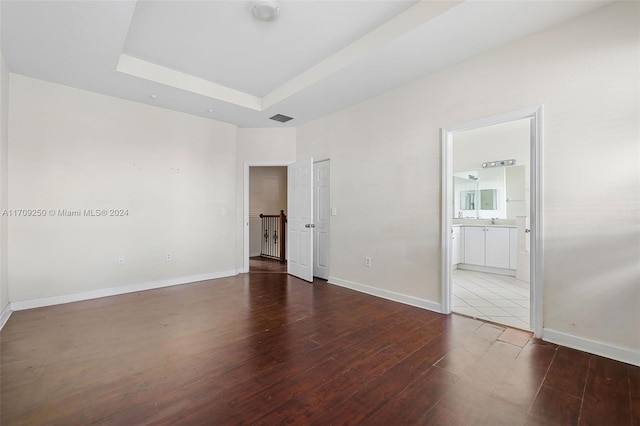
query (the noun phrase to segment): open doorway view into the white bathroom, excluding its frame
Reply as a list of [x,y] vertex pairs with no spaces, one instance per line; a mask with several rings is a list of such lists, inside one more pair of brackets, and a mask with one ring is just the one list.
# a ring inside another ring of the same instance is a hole
[[530,121],[460,131],[452,151],[451,310],[524,330],[531,329]]

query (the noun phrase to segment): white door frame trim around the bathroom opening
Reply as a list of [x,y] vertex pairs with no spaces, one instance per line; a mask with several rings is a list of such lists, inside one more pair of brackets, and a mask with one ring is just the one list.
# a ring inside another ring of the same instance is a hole
[[543,143],[543,105],[523,108],[491,117],[482,118],[440,129],[442,142],[442,196],[441,196],[441,312],[451,313],[451,226],[453,224],[453,136],[465,130],[487,127],[525,118],[531,119],[530,137],[530,325],[536,337],[542,336],[542,277],[543,227],[542,227],[542,143]]

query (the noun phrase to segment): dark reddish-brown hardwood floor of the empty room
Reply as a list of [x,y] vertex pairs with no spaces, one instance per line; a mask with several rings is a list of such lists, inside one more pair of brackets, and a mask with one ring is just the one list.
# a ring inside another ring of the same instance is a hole
[[286,274],[15,312],[2,425],[640,425],[640,368]]

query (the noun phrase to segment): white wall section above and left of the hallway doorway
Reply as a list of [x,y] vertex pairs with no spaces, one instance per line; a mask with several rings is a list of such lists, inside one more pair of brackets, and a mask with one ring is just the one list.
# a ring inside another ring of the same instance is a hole
[[[249,233],[244,215],[244,165],[245,163],[284,165],[296,159],[295,128],[238,129],[236,150],[236,209],[237,216],[236,265],[241,269],[244,264],[244,234]],[[248,195],[248,194],[247,194]],[[247,197],[248,198],[248,197]]]

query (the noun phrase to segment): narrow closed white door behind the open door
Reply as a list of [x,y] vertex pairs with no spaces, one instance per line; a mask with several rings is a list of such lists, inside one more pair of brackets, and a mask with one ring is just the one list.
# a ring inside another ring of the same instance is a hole
[[329,160],[313,165],[313,275],[329,278]]

